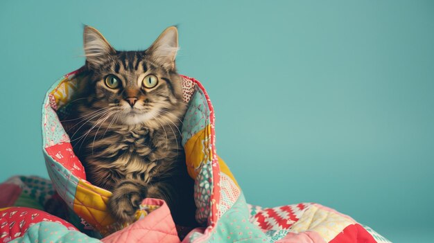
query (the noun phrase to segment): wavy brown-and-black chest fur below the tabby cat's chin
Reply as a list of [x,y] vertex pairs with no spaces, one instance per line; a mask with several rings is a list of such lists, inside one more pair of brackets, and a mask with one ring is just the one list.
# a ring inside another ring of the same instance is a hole
[[89,134],[91,139],[85,141],[85,167],[97,186],[110,189],[123,179],[149,183],[173,167],[175,134],[141,126],[114,126],[104,134],[105,129]]

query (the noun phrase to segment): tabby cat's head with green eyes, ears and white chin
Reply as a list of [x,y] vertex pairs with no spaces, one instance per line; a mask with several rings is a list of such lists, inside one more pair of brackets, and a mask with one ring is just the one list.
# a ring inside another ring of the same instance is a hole
[[95,28],[85,26],[87,111],[103,112],[123,125],[174,121],[183,111],[181,78],[175,69],[177,28],[172,26],[146,51],[116,51]]

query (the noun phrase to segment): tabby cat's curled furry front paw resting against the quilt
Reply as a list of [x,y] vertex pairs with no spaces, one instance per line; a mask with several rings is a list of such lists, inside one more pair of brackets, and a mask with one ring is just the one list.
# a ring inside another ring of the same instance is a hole
[[108,201],[108,209],[117,223],[131,223],[146,197],[146,186],[141,181],[122,181],[114,187],[113,195]]

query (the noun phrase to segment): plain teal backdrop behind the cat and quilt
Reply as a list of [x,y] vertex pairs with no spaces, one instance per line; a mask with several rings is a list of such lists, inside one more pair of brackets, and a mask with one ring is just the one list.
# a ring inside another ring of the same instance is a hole
[[48,177],[42,100],[83,65],[83,24],[124,50],[179,24],[178,69],[207,88],[251,204],[433,242],[433,1],[1,1],[0,181]]

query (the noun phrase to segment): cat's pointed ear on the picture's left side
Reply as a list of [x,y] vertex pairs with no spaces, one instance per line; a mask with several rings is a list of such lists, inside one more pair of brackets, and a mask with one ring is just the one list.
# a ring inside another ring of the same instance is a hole
[[116,53],[107,39],[96,28],[85,26],[83,32],[83,44],[86,60],[93,67],[101,66],[110,54]]

